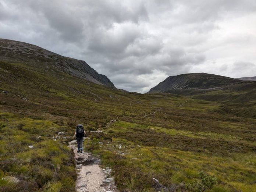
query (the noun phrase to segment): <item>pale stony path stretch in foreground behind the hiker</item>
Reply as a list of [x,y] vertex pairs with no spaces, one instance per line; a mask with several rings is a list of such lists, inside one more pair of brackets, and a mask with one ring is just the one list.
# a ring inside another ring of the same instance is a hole
[[114,178],[110,177],[111,169],[102,169],[100,159],[91,153],[77,153],[77,142],[69,142],[69,147],[74,151],[78,173],[76,190],[78,192],[118,192],[114,185]]

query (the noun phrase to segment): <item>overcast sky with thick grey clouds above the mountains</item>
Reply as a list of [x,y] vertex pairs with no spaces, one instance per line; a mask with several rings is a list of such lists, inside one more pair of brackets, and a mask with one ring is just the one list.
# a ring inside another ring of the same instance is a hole
[[0,0],[0,38],[141,93],[170,75],[256,76],[256,0]]

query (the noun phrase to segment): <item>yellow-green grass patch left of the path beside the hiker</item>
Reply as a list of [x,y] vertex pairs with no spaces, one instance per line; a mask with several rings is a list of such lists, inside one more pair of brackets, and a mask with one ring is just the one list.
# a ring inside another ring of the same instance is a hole
[[[63,139],[52,139],[58,125],[12,113],[0,113],[0,122],[6,125],[1,129],[0,177],[8,173],[21,180],[15,184],[2,179],[1,191],[75,190],[77,175],[71,150],[63,145]],[[70,181],[64,184],[66,175]]]

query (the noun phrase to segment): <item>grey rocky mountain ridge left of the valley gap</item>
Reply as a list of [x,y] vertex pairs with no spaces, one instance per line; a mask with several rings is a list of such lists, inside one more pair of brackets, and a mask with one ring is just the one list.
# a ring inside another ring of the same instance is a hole
[[98,74],[85,61],[64,57],[29,43],[0,39],[0,60],[23,61],[45,72],[64,72],[99,85],[115,88],[106,75]]

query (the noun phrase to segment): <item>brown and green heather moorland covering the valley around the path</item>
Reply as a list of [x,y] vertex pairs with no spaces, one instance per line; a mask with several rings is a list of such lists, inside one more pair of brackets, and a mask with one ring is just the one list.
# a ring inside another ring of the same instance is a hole
[[215,90],[246,96],[236,103],[210,92],[138,94],[37,54],[0,54],[0,191],[75,191],[68,142],[77,124],[88,132],[85,150],[113,170],[120,191],[256,191],[256,101],[244,94],[254,94],[254,82]]

